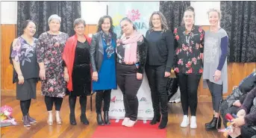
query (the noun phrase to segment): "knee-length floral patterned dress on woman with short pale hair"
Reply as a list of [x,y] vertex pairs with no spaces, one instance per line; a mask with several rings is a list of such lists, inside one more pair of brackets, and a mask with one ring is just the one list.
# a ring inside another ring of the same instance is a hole
[[44,63],[46,68],[46,79],[41,87],[43,95],[58,98],[66,95],[62,54],[68,38],[65,33],[53,35],[48,32],[38,38],[37,62]]

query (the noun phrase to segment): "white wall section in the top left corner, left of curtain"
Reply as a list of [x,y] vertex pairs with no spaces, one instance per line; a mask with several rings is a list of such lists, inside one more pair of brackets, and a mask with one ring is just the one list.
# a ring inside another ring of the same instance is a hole
[[17,1],[1,1],[1,24],[17,23]]

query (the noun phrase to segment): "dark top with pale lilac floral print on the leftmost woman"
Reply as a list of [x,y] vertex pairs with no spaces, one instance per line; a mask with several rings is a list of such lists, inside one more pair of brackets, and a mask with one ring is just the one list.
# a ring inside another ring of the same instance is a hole
[[[37,39],[33,38],[33,44],[27,43],[22,37],[18,37],[13,45],[10,57],[19,63],[23,77],[39,78],[39,66],[37,63]],[[13,82],[18,81],[18,75],[14,69]]]

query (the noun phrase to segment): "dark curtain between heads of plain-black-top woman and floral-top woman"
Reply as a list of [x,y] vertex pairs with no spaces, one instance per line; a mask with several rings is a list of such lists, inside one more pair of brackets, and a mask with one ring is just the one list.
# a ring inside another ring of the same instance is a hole
[[170,30],[181,26],[184,10],[190,6],[190,1],[160,1],[160,12],[166,17]]

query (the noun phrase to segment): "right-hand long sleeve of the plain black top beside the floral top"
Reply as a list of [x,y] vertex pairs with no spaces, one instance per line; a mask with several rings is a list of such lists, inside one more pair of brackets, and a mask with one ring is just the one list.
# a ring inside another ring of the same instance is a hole
[[166,72],[171,72],[174,57],[174,37],[172,31],[166,31],[166,45],[168,49],[168,59],[166,63]]

